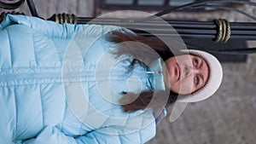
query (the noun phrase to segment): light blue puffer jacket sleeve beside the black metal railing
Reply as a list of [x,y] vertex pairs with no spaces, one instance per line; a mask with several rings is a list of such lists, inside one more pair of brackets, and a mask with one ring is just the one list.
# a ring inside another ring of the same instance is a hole
[[26,15],[8,14],[0,25],[0,29],[4,29],[11,25],[23,25],[32,28],[36,32],[40,32],[52,38],[73,38],[73,37],[101,37],[108,32],[121,30],[119,26],[107,25],[72,25],[57,24],[54,21],[42,20],[37,17]]

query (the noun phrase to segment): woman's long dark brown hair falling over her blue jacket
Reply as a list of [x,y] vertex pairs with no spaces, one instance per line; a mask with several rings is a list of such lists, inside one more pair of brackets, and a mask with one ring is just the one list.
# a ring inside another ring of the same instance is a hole
[[[136,63],[140,65],[145,65],[143,61],[151,63],[159,58],[159,56],[163,60],[167,60],[173,56],[171,49],[157,37],[143,37],[136,33],[124,30],[111,32],[111,34],[108,35],[108,41],[113,43],[122,43],[113,51],[113,55],[116,57],[129,55],[134,58],[134,60],[131,61],[130,69],[132,69]],[[134,45],[128,42],[138,43]],[[146,47],[150,49],[145,49]],[[158,56],[155,56],[155,52]],[[141,58],[143,60],[138,60],[137,58]],[[125,112],[135,112],[148,107],[149,103],[155,99],[153,96],[154,93],[155,91],[143,91],[140,94],[123,92],[124,97],[119,101],[119,103],[122,105]],[[159,93],[165,92],[162,91]],[[172,91],[169,93],[168,101],[161,101],[163,100],[163,96],[158,96],[156,99],[159,100],[150,105],[150,108],[153,108],[154,112],[159,109],[162,110],[163,107],[167,107],[177,100],[177,94]]]

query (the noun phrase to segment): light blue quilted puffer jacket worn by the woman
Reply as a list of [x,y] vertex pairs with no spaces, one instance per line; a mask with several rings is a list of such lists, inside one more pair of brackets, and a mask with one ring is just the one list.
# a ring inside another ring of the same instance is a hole
[[[144,143],[150,109],[123,112],[122,92],[164,89],[131,58],[115,59],[106,34],[117,26],[59,25],[8,15],[0,26],[0,143]],[[128,30],[126,30],[128,32]],[[161,71],[160,60],[150,66]]]

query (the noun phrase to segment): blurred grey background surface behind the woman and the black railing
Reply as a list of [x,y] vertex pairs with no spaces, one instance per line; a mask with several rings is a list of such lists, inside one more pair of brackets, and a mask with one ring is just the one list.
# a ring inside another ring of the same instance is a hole
[[[93,16],[94,0],[37,0],[40,16],[55,13]],[[240,8],[256,15],[251,6]],[[18,11],[29,14],[26,5]],[[103,11],[102,14],[108,13]],[[120,15],[127,15],[120,13]],[[253,21],[234,12],[178,13],[171,18],[230,21]],[[256,43],[248,43],[255,47]],[[157,128],[157,135],[147,144],[255,144],[256,136],[256,55],[247,62],[223,63],[224,81],[218,92],[206,101],[189,104],[182,116],[173,123],[168,116]]]

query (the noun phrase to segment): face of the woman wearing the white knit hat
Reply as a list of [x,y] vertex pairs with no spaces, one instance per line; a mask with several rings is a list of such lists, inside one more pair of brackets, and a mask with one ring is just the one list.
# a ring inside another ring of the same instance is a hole
[[207,83],[209,67],[203,58],[195,55],[179,55],[165,62],[173,92],[191,94]]

